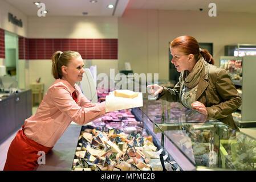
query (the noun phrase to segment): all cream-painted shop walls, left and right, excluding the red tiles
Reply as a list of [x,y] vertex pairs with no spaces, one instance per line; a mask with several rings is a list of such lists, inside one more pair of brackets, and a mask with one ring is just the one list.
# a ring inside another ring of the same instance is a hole
[[[159,73],[168,79],[168,43],[180,35],[194,36],[198,42],[212,42],[214,59],[219,65],[224,46],[256,43],[256,15],[221,13],[209,17],[208,11],[125,10],[122,17],[26,16],[8,3],[0,1],[0,28],[26,38],[118,38],[118,60],[92,60],[98,73],[124,69],[130,62],[135,73]],[[8,12],[22,18],[23,28],[8,22]],[[4,60],[0,59],[0,64]],[[26,87],[41,77],[45,89],[51,78],[50,60],[22,60]],[[142,66],[143,65],[143,66]],[[41,69],[44,68],[45,69]],[[50,76],[50,78],[48,78]],[[45,80],[44,80],[45,79]]]

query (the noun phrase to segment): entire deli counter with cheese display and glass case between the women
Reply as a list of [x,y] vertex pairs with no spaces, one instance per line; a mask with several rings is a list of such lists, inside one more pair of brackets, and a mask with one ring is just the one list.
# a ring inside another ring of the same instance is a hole
[[178,102],[149,98],[70,125],[35,170],[255,170],[256,139]]

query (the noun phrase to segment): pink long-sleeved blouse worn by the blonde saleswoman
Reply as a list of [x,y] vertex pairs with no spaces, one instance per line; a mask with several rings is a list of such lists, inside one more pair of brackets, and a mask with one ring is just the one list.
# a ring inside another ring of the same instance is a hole
[[[78,104],[72,98],[76,92]],[[72,121],[85,125],[105,114],[105,102],[88,101],[78,85],[75,88],[57,79],[47,90],[35,115],[25,120],[27,138],[46,147],[53,147]]]

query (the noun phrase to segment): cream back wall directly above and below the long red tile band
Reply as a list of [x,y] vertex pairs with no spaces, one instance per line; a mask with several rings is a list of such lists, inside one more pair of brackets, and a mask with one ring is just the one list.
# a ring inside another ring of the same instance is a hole
[[[117,18],[84,16],[29,16],[27,38],[70,38],[70,39],[117,39]],[[54,78],[51,75],[51,60],[28,60],[26,77],[28,83],[41,77],[44,93]],[[86,60],[84,60],[86,64]],[[118,69],[118,60],[90,60],[97,66],[97,74]],[[27,85],[29,86],[29,85]]]

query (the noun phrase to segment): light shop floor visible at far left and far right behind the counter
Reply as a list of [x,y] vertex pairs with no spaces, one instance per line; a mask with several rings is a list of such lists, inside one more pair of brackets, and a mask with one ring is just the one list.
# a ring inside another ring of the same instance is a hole
[[[32,114],[35,114],[37,107],[32,108]],[[20,130],[20,129],[19,129]],[[254,128],[243,128],[240,129],[243,133],[250,135],[251,137],[256,138],[256,127]],[[11,141],[16,136],[18,130],[15,131],[9,138],[7,138],[4,142],[0,143],[0,171],[3,170],[3,167],[5,166],[6,161],[6,155],[8,148],[10,146]]]

